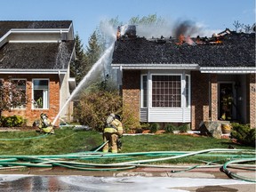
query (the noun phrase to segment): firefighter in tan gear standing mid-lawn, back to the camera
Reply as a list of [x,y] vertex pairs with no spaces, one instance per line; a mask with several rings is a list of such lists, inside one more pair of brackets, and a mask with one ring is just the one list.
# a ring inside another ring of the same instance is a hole
[[[107,126],[104,128],[103,132],[104,142],[108,141],[108,143],[103,147],[103,152],[105,153],[108,152],[109,148],[112,153],[117,153],[117,142],[120,146],[121,141],[118,141],[118,138],[123,135],[123,125],[116,117],[117,116],[115,116],[115,114],[110,114],[107,118]],[[119,148],[119,150],[121,150],[121,148]]]

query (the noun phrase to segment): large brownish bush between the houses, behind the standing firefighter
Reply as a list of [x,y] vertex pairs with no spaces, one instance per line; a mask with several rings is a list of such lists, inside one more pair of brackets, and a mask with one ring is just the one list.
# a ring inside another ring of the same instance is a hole
[[75,118],[80,124],[88,125],[92,130],[100,132],[110,113],[122,113],[122,100],[118,92],[84,92],[74,108]]

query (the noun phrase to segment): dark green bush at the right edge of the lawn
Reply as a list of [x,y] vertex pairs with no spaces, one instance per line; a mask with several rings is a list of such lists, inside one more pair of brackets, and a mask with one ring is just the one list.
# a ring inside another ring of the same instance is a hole
[[231,124],[230,137],[237,142],[255,147],[255,129],[251,129],[248,124]]

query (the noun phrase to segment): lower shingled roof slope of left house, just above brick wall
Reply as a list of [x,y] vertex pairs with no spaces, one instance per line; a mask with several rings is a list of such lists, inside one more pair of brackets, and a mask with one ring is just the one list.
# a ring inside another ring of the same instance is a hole
[[75,41],[5,44],[0,49],[1,69],[67,69]]

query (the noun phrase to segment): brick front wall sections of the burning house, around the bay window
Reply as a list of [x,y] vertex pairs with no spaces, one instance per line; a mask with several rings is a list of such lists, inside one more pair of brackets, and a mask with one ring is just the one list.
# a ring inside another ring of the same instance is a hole
[[[256,127],[256,77],[247,75],[247,123]],[[191,129],[198,130],[202,121],[218,121],[218,74],[191,71]],[[140,117],[140,71],[124,70],[123,104]]]

